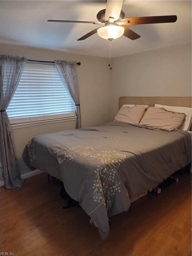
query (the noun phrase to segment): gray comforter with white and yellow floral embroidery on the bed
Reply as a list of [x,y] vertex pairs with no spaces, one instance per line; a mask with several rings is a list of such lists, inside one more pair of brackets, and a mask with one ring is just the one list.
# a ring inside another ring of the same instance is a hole
[[127,211],[131,202],[191,162],[191,137],[185,131],[112,121],[39,135],[26,145],[23,160],[62,179],[105,239],[108,217]]

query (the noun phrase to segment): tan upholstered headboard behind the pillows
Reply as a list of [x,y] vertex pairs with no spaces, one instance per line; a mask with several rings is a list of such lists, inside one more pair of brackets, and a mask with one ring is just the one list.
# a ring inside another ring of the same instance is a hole
[[191,108],[192,97],[119,97],[119,108],[124,104],[149,105],[149,107],[154,107],[155,103]]

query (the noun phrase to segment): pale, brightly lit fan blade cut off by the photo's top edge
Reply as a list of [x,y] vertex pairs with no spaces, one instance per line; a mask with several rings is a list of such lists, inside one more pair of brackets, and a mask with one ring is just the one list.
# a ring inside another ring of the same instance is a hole
[[107,6],[105,10],[105,17],[114,18],[114,21],[119,19],[121,13],[121,8],[123,5],[123,0],[107,0]]

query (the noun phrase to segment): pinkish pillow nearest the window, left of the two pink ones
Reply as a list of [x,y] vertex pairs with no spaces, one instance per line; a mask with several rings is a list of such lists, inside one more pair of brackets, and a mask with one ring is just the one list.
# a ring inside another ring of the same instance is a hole
[[145,106],[121,107],[115,116],[115,121],[139,124],[145,113]]

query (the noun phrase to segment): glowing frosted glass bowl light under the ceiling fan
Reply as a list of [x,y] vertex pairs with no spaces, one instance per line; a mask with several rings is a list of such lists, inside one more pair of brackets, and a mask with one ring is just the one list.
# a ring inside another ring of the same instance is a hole
[[116,39],[123,35],[124,28],[118,25],[107,25],[97,30],[100,37],[104,39]]

